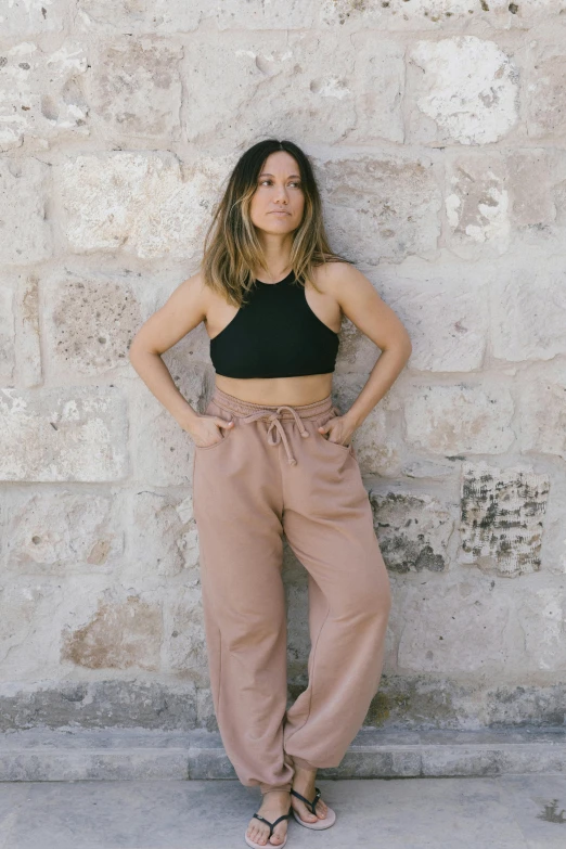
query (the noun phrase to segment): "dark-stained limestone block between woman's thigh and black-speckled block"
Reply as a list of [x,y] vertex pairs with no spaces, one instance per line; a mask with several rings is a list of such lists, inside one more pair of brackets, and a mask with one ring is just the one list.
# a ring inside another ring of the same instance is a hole
[[390,571],[445,571],[454,520],[445,504],[411,492],[370,490],[374,527]]

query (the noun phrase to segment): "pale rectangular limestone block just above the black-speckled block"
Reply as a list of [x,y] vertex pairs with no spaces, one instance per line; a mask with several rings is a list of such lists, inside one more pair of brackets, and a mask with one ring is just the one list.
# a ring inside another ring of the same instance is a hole
[[407,439],[441,454],[506,451],[514,404],[504,386],[415,386],[404,406]]

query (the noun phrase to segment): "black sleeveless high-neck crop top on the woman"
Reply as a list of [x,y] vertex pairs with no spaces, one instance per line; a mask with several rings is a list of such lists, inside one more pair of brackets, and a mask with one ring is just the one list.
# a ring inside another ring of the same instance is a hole
[[311,310],[291,271],[279,283],[256,281],[247,303],[210,339],[210,359],[226,377],[295,377],[333,372],[339,336]]

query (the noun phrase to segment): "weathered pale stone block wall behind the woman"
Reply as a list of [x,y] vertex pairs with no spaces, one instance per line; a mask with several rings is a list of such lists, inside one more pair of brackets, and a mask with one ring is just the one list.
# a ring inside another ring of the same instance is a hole
[[[267,136],[413,340],[355,437],[394,588],[366,722],[564,723],[565,82],[558,0],[2,0],[2,728],[215,728],[192,441],[127,351]],[[207,342],[164,355],[200,410]],[[377,356],[345,320],[339,406]],[[288,546],[285,582],[293,697]]]

